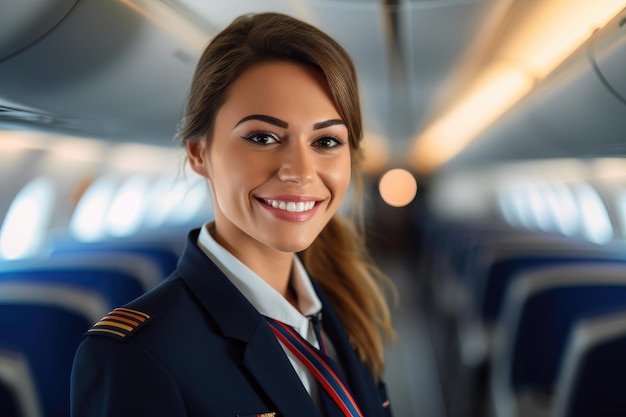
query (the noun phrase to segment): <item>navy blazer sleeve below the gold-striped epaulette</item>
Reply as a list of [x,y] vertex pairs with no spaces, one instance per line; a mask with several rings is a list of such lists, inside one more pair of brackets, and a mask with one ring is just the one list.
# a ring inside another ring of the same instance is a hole
[[187,415],[174,379],[149,352],[98,336],[78,348],[70,403],[72,417]]

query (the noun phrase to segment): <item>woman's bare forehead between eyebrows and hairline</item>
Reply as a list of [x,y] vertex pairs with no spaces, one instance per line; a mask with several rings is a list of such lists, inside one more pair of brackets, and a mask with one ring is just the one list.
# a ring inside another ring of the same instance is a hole
[[315,68],[292,62],[264,62],[244,71],[231,85],[218,113],[270,114],[314,122],[340,118],[328,84]]

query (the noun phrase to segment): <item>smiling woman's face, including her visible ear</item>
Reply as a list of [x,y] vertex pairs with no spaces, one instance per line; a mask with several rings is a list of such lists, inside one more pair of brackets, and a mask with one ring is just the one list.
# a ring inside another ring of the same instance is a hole
[[242,73],[209,143],[188,143],[189,160],[211,186],[218,240],[238,253],[306,249],[350,182],[347,127],[323,76],[306,66]]

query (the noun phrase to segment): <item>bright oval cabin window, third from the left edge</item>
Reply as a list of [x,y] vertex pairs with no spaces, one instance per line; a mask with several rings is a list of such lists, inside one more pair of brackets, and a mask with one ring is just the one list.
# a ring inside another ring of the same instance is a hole
[[109,235],[125,237],[139,230],[144,218],[148,185],[148,178],[144,175],[134,175],[121,184],[105,218]]

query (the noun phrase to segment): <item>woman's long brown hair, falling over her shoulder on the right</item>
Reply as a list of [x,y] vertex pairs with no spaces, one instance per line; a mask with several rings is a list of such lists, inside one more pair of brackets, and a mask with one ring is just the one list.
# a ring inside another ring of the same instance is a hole
[[[350,141],[353,178],[362,194],[358,167],[363,127],[356,71],[350,56],[317,28],[277,13],[235,19],[208,45],[193,77],[181,142],[210,140],[215,117],[229,88],[246,69],[267,61],[291,61],[317,68],[325,77]],[[335,215],[313,244],[300,254],[312,277],[328,294],[353,346],[374,375],[383,370],[383,339],[393,334],[387,302],[367,261],[355,227]]]

